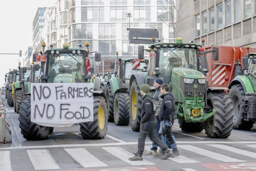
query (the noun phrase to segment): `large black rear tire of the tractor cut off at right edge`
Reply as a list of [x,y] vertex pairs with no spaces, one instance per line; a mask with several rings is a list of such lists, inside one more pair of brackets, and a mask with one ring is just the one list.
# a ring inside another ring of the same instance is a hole
[[231,97],[233,104],[233,113],[234,113],[234,123],[233,129],[239,130],[250,130],[253,127],[251,121],[244,121],[244,112],[245,112],[245,92],[243,86],[233,85],[229,90],[229,96]]

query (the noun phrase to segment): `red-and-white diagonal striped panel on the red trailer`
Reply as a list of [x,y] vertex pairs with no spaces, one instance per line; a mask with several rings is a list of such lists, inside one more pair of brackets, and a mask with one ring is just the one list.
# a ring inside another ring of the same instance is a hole
[[226,75],[225,65],[214,65],[212,71],[212,84],[224,85]]

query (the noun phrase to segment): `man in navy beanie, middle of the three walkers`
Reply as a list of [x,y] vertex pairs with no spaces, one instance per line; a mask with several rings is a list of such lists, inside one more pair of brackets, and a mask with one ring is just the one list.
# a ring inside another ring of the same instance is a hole
[[[157,119],[157,124],[156,124],[156,127],[155,127],[155,133],[156,135],[158,135],[158,137],[160,138],[161,137],[161,132],[159,133],[159,129],[160,129],[160,119],[159,119],[159,111],[160,111],[160,106],[161,106],[161,93],[160,93],[160,85],[162,85],[164,83],[163,79],[161,78],[156,78],[154,80],[154,88],[155,88],[155,93],[154,93],[154,96],[153,96],[153,100],[154,100],[154,103],[155,103],[155,108],[156,108],[156,119]],[[161,131],[161,130],[160,130]],[[163,143],[166,143],[166,145],[168,146],[169,150],[171,150],[171,144],[170,142],[167,140],[166,142],[164,142],[162,140]],[[156,143],[152,143],[152,148],[150,148],[150,151],[146,152],[146,155],[156,155],[156,156],[163,156],[164,154],[161,152],[161,150],[159,150],[159,154],[156,154],[157,153],[157,144]]]

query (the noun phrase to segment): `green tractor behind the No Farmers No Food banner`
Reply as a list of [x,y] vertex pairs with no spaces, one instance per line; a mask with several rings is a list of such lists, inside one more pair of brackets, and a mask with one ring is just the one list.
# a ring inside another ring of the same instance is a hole
[[[52,47],[52,46],[50,46]],[[41,61],[41,72],[38,84],[40,83],[94,83],[93,90],[93,122],[83,122],[80,124],[81,136],[84,139],[102,139],[107,134],[107,103],[105,94],[101,91],[100,78],[91,75],[87,70],[86,60],[88,51],[82,48],[69,48],[68,44],[62,48],[48,49],[44,53],[46,57],[37,58],[37,53],[33,54],[33,61]],[[36,60],[37,59],[37,60]],[[95,54],[95,60],[100,61],[100,54]],[[35,65],[34,65],[35,67]],[[38,68],[34,71],[39,70]],[[31,73],[35,74],[35,72]],[[34,82],[36,82],[34,80]],[[29,91],[28,85],[27,90]],[[27,140],[43,140],[53,132],[53,127],[41,126],[31,122],[33,111],[30,110],[31,99],[29,92],[27,98],[22,101],[19,111],[19,127],[23,137]],[[82,102],[81,102],[82,103]],[[32,114],[31,114],[32,113]]]

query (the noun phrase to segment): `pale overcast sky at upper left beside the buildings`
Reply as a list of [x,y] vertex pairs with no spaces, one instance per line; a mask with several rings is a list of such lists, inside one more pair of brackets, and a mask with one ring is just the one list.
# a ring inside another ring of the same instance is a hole
[[[32,24],[38,7],[55,0],[8,0],[0,3],[0,53],[25,54],[32,46]],[[0,86],[9,69],[17,69],[19,55],[0,54]],[[22,61],[23,62],[23,61]]]

